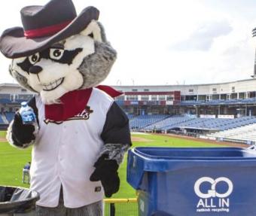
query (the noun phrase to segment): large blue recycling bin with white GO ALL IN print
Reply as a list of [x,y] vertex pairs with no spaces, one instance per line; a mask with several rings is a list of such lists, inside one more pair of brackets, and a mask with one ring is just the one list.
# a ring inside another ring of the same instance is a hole
[[256,215],[256,151],[246,148],[133,148],[127,181],[139,215]]

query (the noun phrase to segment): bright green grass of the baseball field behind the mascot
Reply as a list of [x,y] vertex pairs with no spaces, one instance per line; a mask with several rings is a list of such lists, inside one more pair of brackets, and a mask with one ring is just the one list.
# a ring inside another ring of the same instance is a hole
[[[5,137],[5,132],[0,132]],[[170,138],[163,135],[133,135],[142,141],[133,141],[133,148],[137,146],[151,147],[214,147],[203,141],[191,141],[183,138]],[[31,148],[20,150],[7,142],[0,142],[0,185],[29,187],[21,182],[23,166],[31,160]],[[133,198],[136,191],[126,183],[126,157],[119,169],[120,190],[111,198]]]

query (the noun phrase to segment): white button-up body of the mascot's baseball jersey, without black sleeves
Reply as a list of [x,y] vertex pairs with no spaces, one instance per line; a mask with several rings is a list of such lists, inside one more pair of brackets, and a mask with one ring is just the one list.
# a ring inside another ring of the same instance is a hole
[[104,145],[101,135],[113,99],[93,88],[87,108],[63,122],[46,120],[40,96],[35,102],[40,129],[32,149],[30,175],[31,189],[40,193],[37,205],[56,207],[61,185],[67,208],[101,200],[102,184],[90,181],[90,175]]

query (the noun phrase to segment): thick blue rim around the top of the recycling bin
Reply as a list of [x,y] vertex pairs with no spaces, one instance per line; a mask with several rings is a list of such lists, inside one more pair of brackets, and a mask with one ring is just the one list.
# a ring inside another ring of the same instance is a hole
[[128,151],[126,180],[138,190],[144,175],[187,169],[242,169],[256,166],[256,151],[248,148],[136,147]]

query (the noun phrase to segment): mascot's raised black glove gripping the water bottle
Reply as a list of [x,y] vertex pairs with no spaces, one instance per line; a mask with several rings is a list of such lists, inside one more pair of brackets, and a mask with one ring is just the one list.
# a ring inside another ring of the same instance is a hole
[[12,126],[12,139],[14,145],[23,147],[24,144],[30,143],[35,140],[35,126],[32,124],[23,124],[20,114],[17,112],[14,114],[14,123]]

